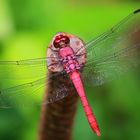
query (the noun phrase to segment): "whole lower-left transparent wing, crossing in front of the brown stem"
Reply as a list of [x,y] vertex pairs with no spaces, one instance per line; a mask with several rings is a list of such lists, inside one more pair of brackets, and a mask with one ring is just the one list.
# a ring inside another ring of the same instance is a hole
[[56,87],[55,91],[44,100],[46,86],[56,76],[64,76],[63,73],[55,73],[53,76],[0,90],[0,108],[9,107],[31,107],[35,105],[48,104],[58,101],[68,95],[68,89],[63,85]]

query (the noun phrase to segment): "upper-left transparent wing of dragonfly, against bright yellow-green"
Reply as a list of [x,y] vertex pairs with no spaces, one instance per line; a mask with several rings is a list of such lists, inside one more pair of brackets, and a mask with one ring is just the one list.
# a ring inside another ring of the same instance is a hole
[[[55,59],[54,65],[59,65],[59,58]],[[0,61],[0,78],[2,80],[23,80],[39,79],[45,77],[47,71],[47,62],[51,57],[27,59],[19,61]]]

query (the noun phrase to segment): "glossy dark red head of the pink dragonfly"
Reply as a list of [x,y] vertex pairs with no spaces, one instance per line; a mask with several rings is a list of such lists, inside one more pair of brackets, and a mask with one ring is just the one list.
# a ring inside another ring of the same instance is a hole
[[65,47],[70,43],[70,39],[68,36],[59,34],[55,37],[53,45],[55,48],[62,48]]

